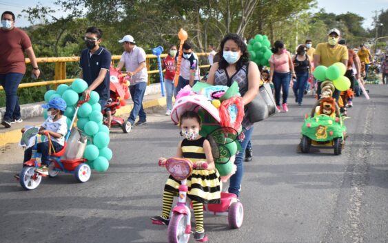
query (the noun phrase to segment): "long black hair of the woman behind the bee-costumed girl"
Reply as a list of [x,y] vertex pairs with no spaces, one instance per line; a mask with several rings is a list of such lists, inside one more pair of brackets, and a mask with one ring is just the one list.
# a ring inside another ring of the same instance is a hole
[[241,56],[240,59],[236,62],[236,70],[239,70],[244,65],[247,65],[249,63],[249,53],[247,51],[247,45],[245,45],[244,40],[239,36],[238,34],[229,33],[227,34],[224,39],[221,41],[220,44],[220,51],[218,52],[220,54],[221,60],[218,62],[220,69],[225,69],[229,63],[223,58],[223,50],[225,43],[229,40],[234,41],[238,48],[240,48]]

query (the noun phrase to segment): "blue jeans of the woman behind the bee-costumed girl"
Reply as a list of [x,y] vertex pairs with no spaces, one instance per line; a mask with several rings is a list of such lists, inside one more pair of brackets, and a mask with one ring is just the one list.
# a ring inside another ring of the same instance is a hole
[[234,160],[234,165],[237,166],[237,171],[234,173],[234,175],[230,178],[229,182],[229,193],[234,193],[237,196],[240,194],[240,188],[241,188],[241,181],[243,180],[243,173],[244,173],[244,156],[245,156],[245,149],[247,148],[247,144],[249,140],[251,140],[252,132],[254,131],[254,127],[251,127],[247,129],[247,131],[244,131],[245,138],[241,144],[241,151],[236,154],[236,159]]

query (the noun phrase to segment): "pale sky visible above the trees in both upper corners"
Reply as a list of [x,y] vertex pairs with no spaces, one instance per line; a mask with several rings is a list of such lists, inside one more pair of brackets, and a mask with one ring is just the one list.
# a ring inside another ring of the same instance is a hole
[[[287,1],[287,0],[283,0]],[[10,10],[15,15],[21,14],[21,10],[28,7],[34,7],[37,3],[43,3],[45,6],[54,6],[54,0],[0,0],[0,11]],[[382,8],[388,8],[388,0],[317,0],[318,8],[325,8],[326,12],[342,14],[354,12],[365,18],[363,27],[372,28],[374,11],[380,11]],[[380,14],[380,12],[378,12]],[[24,17],[17,18],[17,27],[26,27],[30,23]]]

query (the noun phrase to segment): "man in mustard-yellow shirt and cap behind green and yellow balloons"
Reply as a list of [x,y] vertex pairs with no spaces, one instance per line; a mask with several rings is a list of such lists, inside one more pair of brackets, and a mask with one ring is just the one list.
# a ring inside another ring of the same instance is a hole
[[[336,28],[329,30],[328,39],[325,43],[319,43],[316,45],[314,52],[314,67],[324,65],[329,67],[334,63],[341,62],[347,66],[347,59],[349,58],[347,53],[347,47],[345,45],[339,45],[340,31]],[[318,90],[316,92],[320,96],[320,84],[318,84]],[[338,103],[340,91],[336,89],[333,93],[333,98]]]

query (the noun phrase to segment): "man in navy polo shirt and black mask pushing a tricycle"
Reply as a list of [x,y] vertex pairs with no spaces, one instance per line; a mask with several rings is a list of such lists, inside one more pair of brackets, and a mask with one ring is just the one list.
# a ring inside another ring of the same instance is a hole
[[85,44],[88,48],[82,50],[79,60],[79,67],[82,69],[80,77],[89,85],[83,96],[90,95],[92,90],[99,93],[101,109],[110,97],[109,69],[112,62],[110,52],[100,46],[102,35],[102,30],[96,27],[86,30]]

